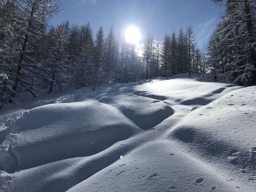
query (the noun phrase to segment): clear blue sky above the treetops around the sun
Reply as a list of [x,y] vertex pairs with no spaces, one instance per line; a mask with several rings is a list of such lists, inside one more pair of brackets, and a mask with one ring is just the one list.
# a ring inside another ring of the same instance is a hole
[[[223,7],[211,0],[60,0],[61,12],[52,19],[57,25],[65,20],[78,25],[90,22],[94,33],[111,25],[121,36],[131,25],[145,38],[148,33],[162,38],[173,30],[179,32],[189,23],[195,31],[199,48],[206,50],[208,40],[219,22]],[[142,41],[143,41],[142,38]]]

